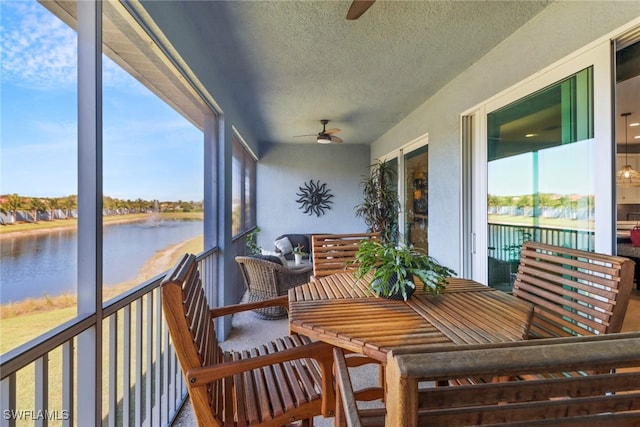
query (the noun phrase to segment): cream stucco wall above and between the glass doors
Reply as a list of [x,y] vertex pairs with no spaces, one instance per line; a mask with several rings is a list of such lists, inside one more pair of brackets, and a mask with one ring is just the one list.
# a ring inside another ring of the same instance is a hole
[[557,2],[372,144],[375,159],[429,134],[429,252],[462,271],[460,115],[640,16],[640,2]]

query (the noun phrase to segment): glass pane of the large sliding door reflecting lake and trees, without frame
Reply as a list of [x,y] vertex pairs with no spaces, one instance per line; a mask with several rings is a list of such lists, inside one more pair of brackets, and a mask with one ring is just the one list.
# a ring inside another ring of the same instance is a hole
[[526,240],[594,250],[593,69],[487,115],[488,284],[510,290]]

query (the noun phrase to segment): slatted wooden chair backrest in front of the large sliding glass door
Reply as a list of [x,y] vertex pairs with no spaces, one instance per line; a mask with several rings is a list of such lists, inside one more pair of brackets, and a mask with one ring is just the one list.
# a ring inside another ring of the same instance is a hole
[[530,337],[619,332],[634,262],[627,258],[525,242],[513,295],[534,304]]

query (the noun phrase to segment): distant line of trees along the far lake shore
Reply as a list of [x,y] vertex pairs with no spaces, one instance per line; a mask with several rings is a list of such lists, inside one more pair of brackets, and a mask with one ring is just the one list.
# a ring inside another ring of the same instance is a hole
[[[104,215],[127,215],[145,212],[197,212],[202,211],[202,202],[193,201],[163,201],[158,200],[122,200],[105,196],[102,198]],[[73,218],[78,210],[78,196],[65,197],[27,197],[19,194],[0,195],[0,212],[9,215],[15,221],[19,212],[28,220],[38,221],[38,218],[53,221],[57,218]]]

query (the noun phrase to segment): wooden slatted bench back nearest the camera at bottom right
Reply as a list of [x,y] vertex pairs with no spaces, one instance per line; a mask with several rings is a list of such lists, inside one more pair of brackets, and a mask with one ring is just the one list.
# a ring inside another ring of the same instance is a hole
[[[639,355],[640,332],[392,352],[387,359],[386,425],[638,426]],[[550,370],[599,373],[433,386],[455,378],[519,377]],[[337,377],[337,389],[342,402],[355,401],[344,376]],[[347,408],[347,425],[368,421],[368,410]],[[379,420],[379,414],[373,415]]]

